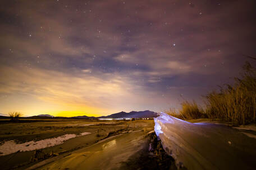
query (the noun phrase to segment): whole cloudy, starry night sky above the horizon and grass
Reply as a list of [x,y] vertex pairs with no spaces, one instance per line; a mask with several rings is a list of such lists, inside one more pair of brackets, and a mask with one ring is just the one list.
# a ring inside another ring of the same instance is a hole
[[179,108],[256,56],[255,1],[1,1],[0,112]]

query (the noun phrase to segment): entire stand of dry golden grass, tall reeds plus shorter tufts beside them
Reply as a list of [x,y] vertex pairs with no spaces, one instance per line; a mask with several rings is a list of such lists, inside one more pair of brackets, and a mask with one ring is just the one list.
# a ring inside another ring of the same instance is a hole
[[256,70],[245,63],[241,78],[235,78],[234,85],[226,84],[220,92],[212,91],[204,96],[204,109],[194,101],[181,103],[180,113],[167,111],[171,116],[183,120],[209,118],[234,124],[255,122],[256,113]]

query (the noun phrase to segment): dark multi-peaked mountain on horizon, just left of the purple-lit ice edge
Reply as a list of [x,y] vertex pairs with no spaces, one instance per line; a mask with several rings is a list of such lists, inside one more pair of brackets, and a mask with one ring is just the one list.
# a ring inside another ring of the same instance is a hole
[[157,117],[157,113],[149,110],[145,111],[131,111],[129,113],[121,111],[117,114],[112,114],[108,116],[100,116],[98,119],[122,119],[122,118],[147,118],[147,117]]

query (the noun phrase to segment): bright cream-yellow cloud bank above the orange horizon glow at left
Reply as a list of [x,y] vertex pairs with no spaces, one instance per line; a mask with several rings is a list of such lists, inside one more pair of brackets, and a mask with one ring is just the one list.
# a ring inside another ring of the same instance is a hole
[[[56,71],[26,68],[1,68],[1,93],[32,93],[41,100],[72,103],[76,105],[107,105],[100,98],[129,97],[126,89],[131,86],[120,77],[103,80],[88,72],[72,75]],[[12,76],[10,76],[12,75]],[[107,76],[106,74],[103,76]]]

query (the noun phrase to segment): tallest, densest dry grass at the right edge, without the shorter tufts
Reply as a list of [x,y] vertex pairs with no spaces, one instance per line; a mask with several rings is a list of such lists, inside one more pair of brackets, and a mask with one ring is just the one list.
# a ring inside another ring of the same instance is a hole
[[220,93],[211,92],[206,98],[205,113],[210,119],[220,119],[238,124],[255,122],[256,72],[244,65],[241,79],[235,78],[233,86],[227,85]]

